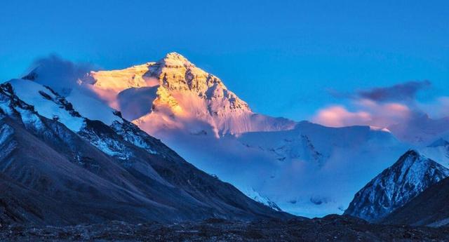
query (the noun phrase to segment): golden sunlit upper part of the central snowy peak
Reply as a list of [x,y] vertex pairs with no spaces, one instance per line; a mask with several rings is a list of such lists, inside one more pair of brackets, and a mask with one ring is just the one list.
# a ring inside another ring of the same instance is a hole
[[178,53],[127,69],[91,72],[85,82],[125,119],[149,133],[178,128],[220,137],[295,125],[288,119],[253,113],[217,76]]

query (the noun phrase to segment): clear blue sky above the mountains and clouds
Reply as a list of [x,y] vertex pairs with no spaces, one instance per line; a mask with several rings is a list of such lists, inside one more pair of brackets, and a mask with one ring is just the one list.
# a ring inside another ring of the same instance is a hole
[[449,94],[449,1],[391,2],[2,1],[0,80],[50,53],[117,69],[176,51],[297,120],[341,102],[329,88],[426,79]]

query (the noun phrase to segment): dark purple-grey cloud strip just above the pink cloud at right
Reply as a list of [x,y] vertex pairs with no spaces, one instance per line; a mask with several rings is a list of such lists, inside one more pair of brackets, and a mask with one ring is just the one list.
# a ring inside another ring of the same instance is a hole
[[359,90],[357,96],[378,102],[415,100],[416,94],[431,86],[430,81],[408,81],[394,86]]

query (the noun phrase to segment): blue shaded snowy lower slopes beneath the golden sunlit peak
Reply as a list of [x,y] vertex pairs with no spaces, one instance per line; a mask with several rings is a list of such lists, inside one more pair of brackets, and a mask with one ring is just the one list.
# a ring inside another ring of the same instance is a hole
[[367,126],[225,135],[166,133],[164,142],[201,170],[241,191],[308,217],[342,213],[360,187],[408,149]]

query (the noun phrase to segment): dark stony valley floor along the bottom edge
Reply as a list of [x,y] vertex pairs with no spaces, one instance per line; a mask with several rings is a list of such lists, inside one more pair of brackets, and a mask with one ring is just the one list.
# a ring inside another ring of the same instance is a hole
[[236,222],[210,219],[175,224],[83,224],[0,228],[1,241],[449,241],[449,228],[369,224],[354,217]]

